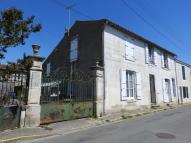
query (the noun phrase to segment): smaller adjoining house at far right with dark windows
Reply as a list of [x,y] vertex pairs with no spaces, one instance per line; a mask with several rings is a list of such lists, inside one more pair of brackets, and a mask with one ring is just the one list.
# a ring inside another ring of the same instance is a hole
[[189,103],[191,101],[190,65],[176,60],[176,74],[179,103]]

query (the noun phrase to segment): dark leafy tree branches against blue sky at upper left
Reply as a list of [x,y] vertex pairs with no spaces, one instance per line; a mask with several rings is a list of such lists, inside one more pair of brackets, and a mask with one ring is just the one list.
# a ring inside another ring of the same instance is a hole
[[7,48],[24,45],[31,33],[39,32],[41,24],[34,24],[34,16],[24,18],[23,12],[9,8],[0,12],[0,59]]

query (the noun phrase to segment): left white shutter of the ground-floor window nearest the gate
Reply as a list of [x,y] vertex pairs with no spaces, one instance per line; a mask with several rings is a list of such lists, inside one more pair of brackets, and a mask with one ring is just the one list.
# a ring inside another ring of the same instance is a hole
[[121,100],[127,100],[127,78],[126,70],[121,70]]

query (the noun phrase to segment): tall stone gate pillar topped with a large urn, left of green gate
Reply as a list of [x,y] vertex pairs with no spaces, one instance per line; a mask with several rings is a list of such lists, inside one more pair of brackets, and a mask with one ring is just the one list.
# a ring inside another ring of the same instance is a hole
[[25,127],[36,127],[40,125],[40,95],[42,79],[42,61],[44,58],[39,56],[40,46],[32,45],[33,65],[30,69],[28,104],[26,106]]

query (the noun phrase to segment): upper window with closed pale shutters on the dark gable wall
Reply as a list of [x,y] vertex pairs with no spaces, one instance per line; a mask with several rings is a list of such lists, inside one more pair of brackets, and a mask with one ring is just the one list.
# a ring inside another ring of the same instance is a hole
[[76,61],[78,58],[78,38],[74,38],[70,43],[70,62]]

